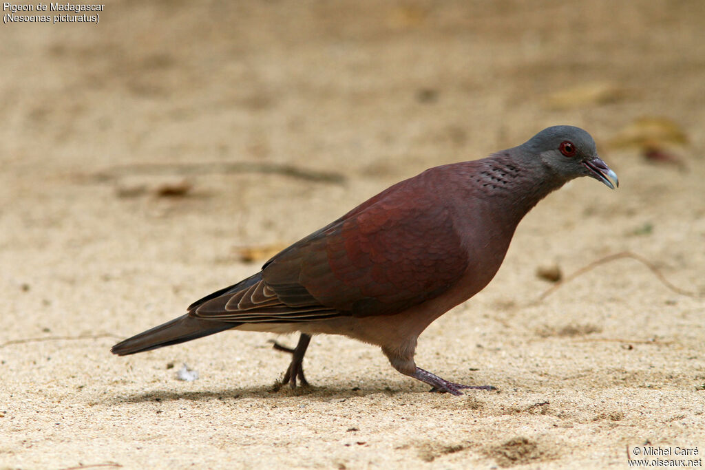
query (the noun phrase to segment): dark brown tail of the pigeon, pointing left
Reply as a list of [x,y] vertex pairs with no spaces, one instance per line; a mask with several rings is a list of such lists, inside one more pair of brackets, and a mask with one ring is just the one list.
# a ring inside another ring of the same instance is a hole
[[178,319],[167,321],[139,335],[118,342],[111,348],[110,352],[118,354],[118,356],[125,356],[127,354],[135,354],[135,352],[156,350],[158,347],[178,345],[180,342],[219,333],[220,331],[234,328],[239,324],[195,319],[185,314],[178,317]]

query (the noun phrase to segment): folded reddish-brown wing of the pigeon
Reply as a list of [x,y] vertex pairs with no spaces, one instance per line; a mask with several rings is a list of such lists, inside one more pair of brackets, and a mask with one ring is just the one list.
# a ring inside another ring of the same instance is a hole
[[442,197],[419,177],[398,183],[190,313],[238,323],[315,321],[396,314],[437,297],[468,263]]

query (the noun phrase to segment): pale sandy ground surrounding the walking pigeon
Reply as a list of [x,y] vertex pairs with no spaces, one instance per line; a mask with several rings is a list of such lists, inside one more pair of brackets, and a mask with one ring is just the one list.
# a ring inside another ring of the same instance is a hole
[[[0,468],[701,458],[705,11],[615,4],[107,0],[98,25],[1,25]],[[586,99],[578,86],[606,89]],[[639,116],[685,132],[668,148],[680,166],[610,145]],[[314,387],[296,393],[271,391],[288,364],[274,335],[109,353],[257,271],[235,247],[293,242],[424,168],[558,123],[596,137],[621,187],[584,178],[541,202],[493,283],[417,351],[420,366],[499,392],[428,393],[339,337],[314,338]],[[345,180],[194,172],[215,162]],[[157,195],[182,178],[185,196]],[[537,302],[551,287],[540,266],[570,275],[625,251],[694,295],[623,258]],[[200,378],[176,380],[183,363]]]

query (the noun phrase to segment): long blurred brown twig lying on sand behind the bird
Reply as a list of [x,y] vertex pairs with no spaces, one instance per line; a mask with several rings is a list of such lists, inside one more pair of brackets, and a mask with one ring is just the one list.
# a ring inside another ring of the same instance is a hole
[[265,173],[290,176],[319,183],[343,183],[345,176],[333,171],[315,171],[286,163],[262,163],[255,161],[212,161],[199,163],[133,163],[113,166],[98,173],[82,175],[89,180],[109,181],[124,175],[207,175],[212,173]]

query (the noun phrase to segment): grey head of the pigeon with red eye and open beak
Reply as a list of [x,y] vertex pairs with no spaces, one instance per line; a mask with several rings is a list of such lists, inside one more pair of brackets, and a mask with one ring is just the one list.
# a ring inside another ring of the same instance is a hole
[[598,156],[595,141],[581,128],[554,125],[534,135],[520,148],[538,156],[544,166],[566,181],[590,176],[611,189],[619,186],[615,172]]

